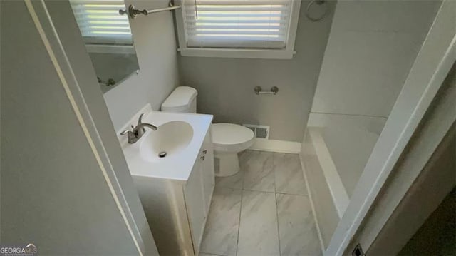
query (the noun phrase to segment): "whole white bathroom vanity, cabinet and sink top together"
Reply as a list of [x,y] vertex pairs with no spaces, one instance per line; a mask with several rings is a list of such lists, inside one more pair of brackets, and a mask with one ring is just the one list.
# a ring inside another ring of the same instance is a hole
[[212,116],[157,112],[146,106],[124,128],[135,126],[140,113],[142,122],[158,129],[146,130],[133,144],[119,133],[118,138],[158,251],[199,255],[214,190]]

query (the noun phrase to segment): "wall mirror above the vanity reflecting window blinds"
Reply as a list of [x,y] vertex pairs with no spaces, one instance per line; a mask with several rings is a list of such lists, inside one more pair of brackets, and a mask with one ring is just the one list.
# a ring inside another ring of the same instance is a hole
[[103,93],[134,73],[139,65],[123,0],[70,0]]

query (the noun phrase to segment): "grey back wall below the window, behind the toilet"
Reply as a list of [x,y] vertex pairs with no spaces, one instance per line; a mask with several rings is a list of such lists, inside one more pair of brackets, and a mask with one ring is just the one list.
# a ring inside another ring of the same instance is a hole
[[[182,84],[198,90],[199,113],[214,122],[271,126],[270,139],[301,141],[311,109],[335,1],[325,19],[304,16],[302,1],[291,60],[180,57]],[[254,87],[279,88],[276,96],[257,96]]]

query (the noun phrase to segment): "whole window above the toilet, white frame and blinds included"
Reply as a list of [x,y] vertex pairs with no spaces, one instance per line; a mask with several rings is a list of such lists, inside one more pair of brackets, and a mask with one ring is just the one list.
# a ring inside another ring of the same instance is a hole
[[181,0],[182,56],[292,58],[299,0]]

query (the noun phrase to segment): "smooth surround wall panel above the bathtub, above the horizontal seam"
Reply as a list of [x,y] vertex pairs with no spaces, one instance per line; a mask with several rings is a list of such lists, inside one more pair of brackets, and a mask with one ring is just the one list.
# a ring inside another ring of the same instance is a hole
[[440,1],[339,1],[313,113],[388,118]]

